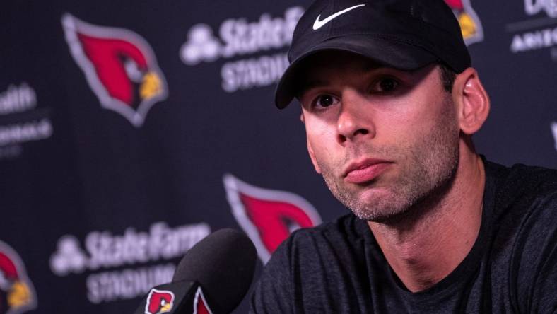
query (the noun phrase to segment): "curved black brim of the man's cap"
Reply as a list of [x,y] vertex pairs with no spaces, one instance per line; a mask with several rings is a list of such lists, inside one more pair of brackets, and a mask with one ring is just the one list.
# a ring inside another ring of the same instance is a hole
[[431,54],[422,47],[392,38],[372,37],[370,35],[333,37],[312,47],[291,62],[276,87],[276,107],[283,109],[295,98],[297,86],[295,86],[296,80],[294,78],[296,70],[300,68],[300,65],[313,54],[329,50],[353,52],[373,59],[382,66],[406,71],[418,69],[438,60],[438,57],[435,57],[434,54]]

